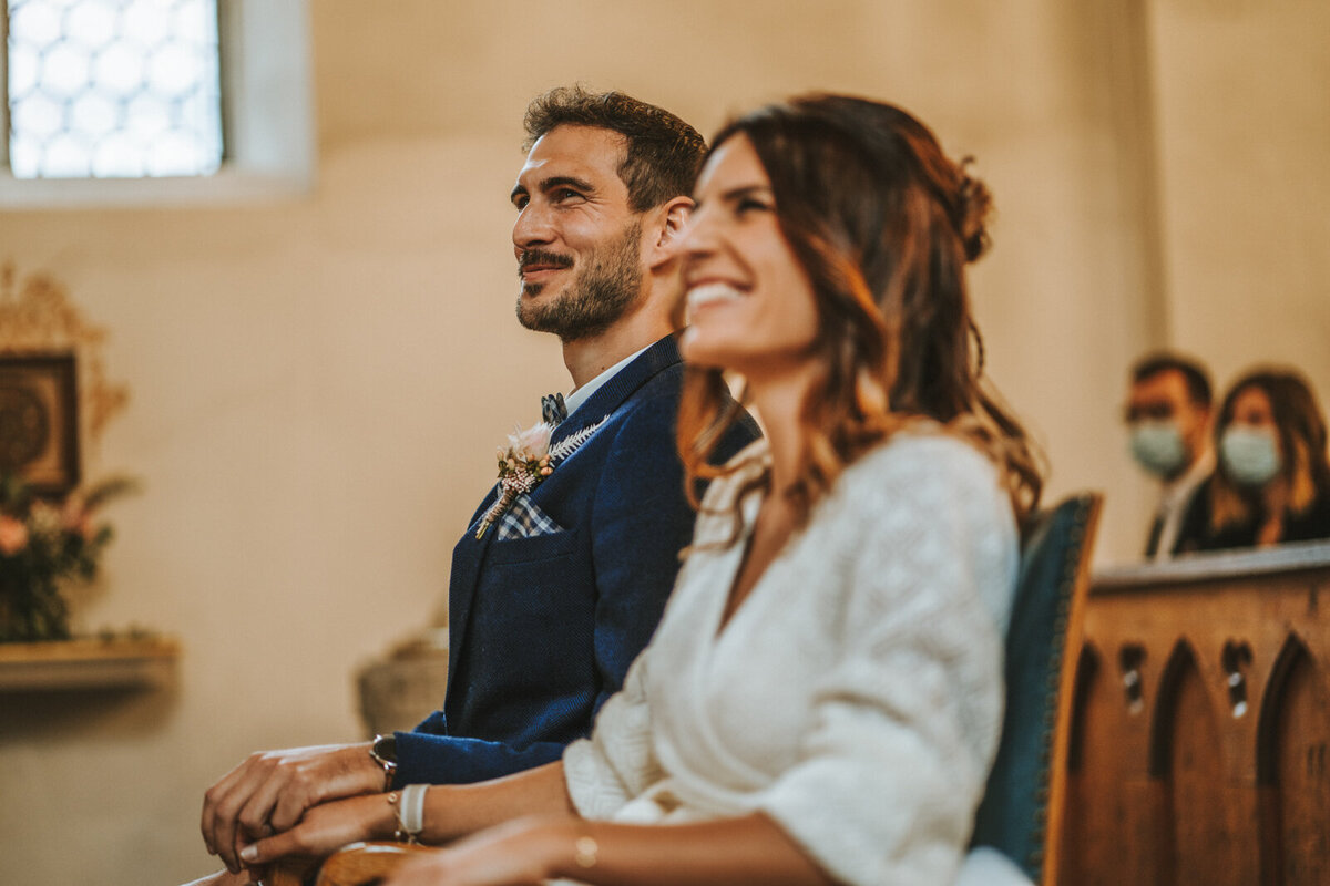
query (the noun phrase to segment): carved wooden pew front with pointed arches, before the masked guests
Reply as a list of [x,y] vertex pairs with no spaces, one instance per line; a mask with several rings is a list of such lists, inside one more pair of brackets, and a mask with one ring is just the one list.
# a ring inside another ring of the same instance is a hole
[[1330,883],[1330,543],[1101,571],[1059,882]]

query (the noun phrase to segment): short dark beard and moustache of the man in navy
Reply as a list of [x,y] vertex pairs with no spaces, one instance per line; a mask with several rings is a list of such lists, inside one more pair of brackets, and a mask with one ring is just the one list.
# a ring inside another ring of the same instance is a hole
[[642,223],[630,222],[624,234],[596,248],[564,292],[547,304],[524,298],[540,284],[524,286],[517,296],[517,320],[536,332],[553,332],[561,341],[600,335],[614,325],[642,288]]

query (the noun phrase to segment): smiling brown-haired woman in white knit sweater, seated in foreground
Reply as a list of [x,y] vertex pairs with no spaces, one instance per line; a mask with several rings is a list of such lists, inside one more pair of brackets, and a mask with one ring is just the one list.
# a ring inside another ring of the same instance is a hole
[[[430,788],[426,838],[473,836],[394,885],[938,885],[966,863],[1040,486],[980,380],[987,190],[904,112],[814,96],[724,129],[696,198],[678,436],[712,482],[665,618],[561,762]],[[722,372],[767,436],[717,470]],[[306,846],[383,817],[314,813]]]

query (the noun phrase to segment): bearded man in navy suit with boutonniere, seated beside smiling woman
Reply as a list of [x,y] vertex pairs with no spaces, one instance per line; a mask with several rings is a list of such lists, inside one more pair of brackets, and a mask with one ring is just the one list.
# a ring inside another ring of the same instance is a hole
[[[547,404],[552,470],[503,507],[492,491],[454,550],[442,711],[370,744],[257,753],[207,792],[203,840],[233,873],[239,845],[317,804],[557,758],[664,610],[693,526],[674,449],[673,243],[705,143],[660,108],[580,88],[537,98],[525,125],[517,317],[560,337],[573,381]],[[747,420],[720,456],[755,436]]]

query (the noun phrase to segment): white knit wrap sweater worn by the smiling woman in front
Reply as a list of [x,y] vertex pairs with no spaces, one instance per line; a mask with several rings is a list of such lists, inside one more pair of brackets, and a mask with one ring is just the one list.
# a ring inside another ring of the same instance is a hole
[[954,882],[1001,727],[1017,545],[996,470],[942,432],[896,434],[718,632],[746,537],[714,543],[766,458],[754,444],[708,491],[654,639],[564,756],[573,802],[625,822],[762,810],[837,881]]

